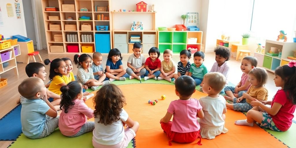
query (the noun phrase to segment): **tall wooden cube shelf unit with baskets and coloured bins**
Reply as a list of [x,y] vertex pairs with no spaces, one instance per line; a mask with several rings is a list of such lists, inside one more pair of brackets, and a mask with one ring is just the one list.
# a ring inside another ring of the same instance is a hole
[[[72,4],[72,6],[74,5],[74,7],[65,7],[64,4]],[[109,0],[42,0],[44,27],[48,53],[73,53],[67,51],[67,45],[78,46],[79,50],[77,52],[74,52],[76,54],[82,52],[81,46],[83,45],[93,46],[93,52],[109,52],[111,46],[110,30],[112,30],[112,28],[110,28],[110,21],[112,19],[110,17],[111,12],[95,12],[96,9],[94,7],[109,7],[110,10],[110,4],[111,2]],[[59,8],[59,11],[45,11],[46,7],[56,7]],[[63,8],[66,11],[63,11]],[[81,12],[81,8],[87,8],[88,12]],[[98,20],[97,16],[102,14],[106,17],[109,17],[109,20]],[[49,18],[49,16],[56,17]],[[91,20],[79,20],[81,16],[90,17]],[[73,20],[68,20],[68,17],[73,17]],[[54,20],[52,20],[52,18],[54,18]],[[54,26],[52,25],[53,23],[58,25]],[[88,23],[91,29],[87,31],[82,30],[83,23]],[[65,25],[67,25],[67,27],[65,27]],[[108,26],[108,30],[97,31],[96,25]],[[55,34],[61,34],[62,41],[54,41]],[[67,34],[77,34],[77,42],[67,42]],[[91,35],[92,42],[82,42],[81,35],[84,34]],[[100,40],[103,40],[104,44],[107,44],[107,46],[102,46],[102,41]],[[108,44],[110,44],[110,46],[108,46]],[[50,46],[52,46],[52,49]]]

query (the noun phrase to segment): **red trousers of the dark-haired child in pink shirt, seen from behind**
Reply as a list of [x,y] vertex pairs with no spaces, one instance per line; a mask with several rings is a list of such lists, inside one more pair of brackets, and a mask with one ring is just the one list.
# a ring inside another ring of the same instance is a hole
[[200,140],[197,142],[198,145],[201,142],[201,136],[200,136],[200,131],[194,131],[194,132],[189,132],[189,133],[178,133],[171,131],[173,122],[169,121],[168,123],[161,123],[161,128],[165,133],[167,133],[168,138],[170,139],[168,144],[172,145],[171,141],[175,141],[178,143],[191,143],[195,141],[197,138]]

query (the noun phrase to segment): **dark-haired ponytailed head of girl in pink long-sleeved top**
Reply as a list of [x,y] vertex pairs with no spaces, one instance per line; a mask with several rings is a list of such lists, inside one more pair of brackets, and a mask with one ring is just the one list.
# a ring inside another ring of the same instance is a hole
[[78,81],[72,81],[67,85],[61,87],[61,102],[60,109],[64,108],[64,112],[67,113],[68,109],[71,108],[75,103],[72,100],[77,99],[77,95],[82,91],[82,84]]

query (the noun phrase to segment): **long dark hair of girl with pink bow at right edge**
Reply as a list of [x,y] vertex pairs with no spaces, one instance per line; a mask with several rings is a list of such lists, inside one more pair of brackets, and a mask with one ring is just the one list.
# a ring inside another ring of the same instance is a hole
[[289,92],[287,98],[291,99],[293,104],[296,104],[296,61],[277,67],[274,74],[280,76],[285,81],[283,90],[286,94],[287,91]]

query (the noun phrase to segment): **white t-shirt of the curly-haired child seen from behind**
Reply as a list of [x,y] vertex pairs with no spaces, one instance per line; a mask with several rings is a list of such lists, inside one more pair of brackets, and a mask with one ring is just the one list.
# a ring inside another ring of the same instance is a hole
[[122,121],[128,120],[128,113],[122,109],[120,119],[111,125],[98,123],[99,117],[94,118],[93,140],[102,145],[115,145],[123,141],[124,127]]

